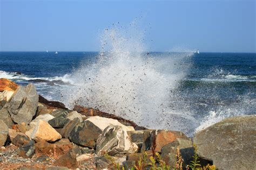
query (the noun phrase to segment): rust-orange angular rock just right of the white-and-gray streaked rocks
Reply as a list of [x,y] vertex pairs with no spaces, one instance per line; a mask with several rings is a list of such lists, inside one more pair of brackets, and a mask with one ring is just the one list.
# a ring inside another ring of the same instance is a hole
[[189,139],[183,132],[170,131],[170,130],[153,130],[150,133],[150,145],[151,149],[155,152],[160,152],[161,148],[176,140],[177,138]]

